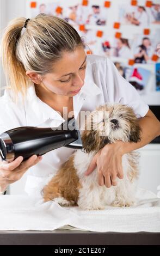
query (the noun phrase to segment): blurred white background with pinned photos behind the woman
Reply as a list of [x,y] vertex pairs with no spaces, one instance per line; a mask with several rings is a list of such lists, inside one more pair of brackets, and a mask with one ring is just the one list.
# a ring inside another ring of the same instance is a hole
[[[56,15],[75,27],[87,54],[112,59],[120,74],[137,89],[160,120],[159,1],[0,0],[0,36],[11,19],[32,18],[39,13]],[[0,68],[2,96],[5,77],[2,65]],[[141,153],[139,186],[157,193],[160,137],[138,151]],[[10,193],[23,193],[24,182],[25,177],[11,185]]]

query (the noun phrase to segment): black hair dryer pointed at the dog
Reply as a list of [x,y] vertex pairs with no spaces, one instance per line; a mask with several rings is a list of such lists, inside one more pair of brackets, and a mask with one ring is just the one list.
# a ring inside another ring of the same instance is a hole
[[11,162],[23,156],[23,160],[32,155],[45,153],[60,147],[82,149],[82,140],[75,118],[69,118],[58,127],[24,126],[6,131],[0,135],[0,156]]

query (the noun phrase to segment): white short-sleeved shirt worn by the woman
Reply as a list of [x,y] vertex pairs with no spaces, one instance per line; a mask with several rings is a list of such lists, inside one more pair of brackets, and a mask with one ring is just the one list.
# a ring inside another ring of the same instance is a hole
[[[144,117],[149,110],[134,87],[123,78],[113,62],[104,56],[87,56],[84,86],[73,96],[73,111],[78,120],[80,111],[94,111],[107,102],[119,102],[131,106],[137,117]],[[14,103],[11,93],[5,90],[0,97],[0,134],[20,126],[54,127],[63,123],[58,112],[41,101],[34,86],[29,87],[26,100]],[[57,123],[59,122],[59,124]],[[61,147],[43,155],[41,162],[28,170],[26,192],[40,193],[47,179],[56,174],[60,165],[74,152]]]

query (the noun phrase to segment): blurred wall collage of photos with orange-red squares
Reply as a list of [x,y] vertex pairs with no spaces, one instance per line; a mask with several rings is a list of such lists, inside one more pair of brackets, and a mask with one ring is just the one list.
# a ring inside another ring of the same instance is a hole
[[[110,58],[140,94],[160,91],[160,2],[130,0],[37,0],[27,3],[29,17],[40,13],[69,22],[82,37],[87,54]],[[152,81],[152,80],[151,80]]]

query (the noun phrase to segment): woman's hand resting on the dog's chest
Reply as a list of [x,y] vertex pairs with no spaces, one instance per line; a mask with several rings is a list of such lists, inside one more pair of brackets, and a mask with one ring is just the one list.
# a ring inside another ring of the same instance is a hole
[[91,161],[85,175],[89,175],[97,167],[100,186],[116,186],[117,177],[123,178],[121,141],[105,145]]

